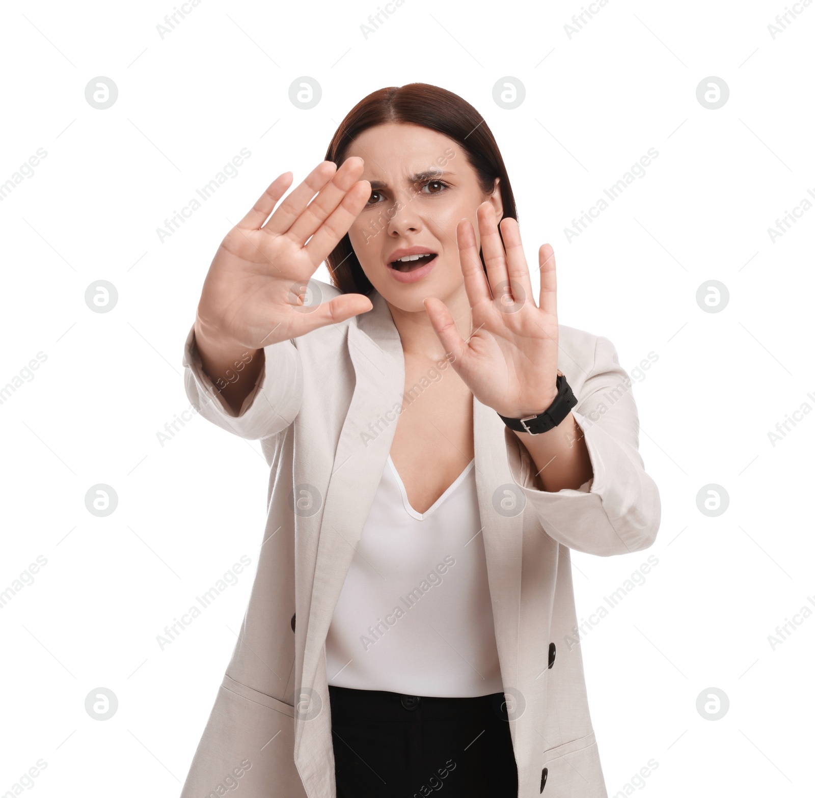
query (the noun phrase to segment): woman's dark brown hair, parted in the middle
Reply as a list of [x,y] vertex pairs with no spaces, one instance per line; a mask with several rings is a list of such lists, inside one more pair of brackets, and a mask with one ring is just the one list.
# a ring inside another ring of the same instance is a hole
[[[498,185],[504,218],[518,219],[504,159],[487,122],[465,99],[430,83],[389,86],[361,99],[341,121],[328,144],[325,160],[333,161],[339,168],[349,144],[363,130],[386,122],[412,122],[459,143],[478,174],[482,191],[491,192],[495,179],[500,178]],[[479,255],[483,264],[483,255]],[[342,293],[372,292],[373,286],[359,264],[347,233],[328,255],[327,261],[331,282]]]

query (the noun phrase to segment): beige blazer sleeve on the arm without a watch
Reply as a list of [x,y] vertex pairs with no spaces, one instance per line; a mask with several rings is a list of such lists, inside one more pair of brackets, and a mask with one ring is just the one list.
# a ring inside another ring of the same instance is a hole
[[249,440],[269,438],[289,427],[300,411],[303,393],[302,363],[293,341],[263,347],[265,362],[235,415],[205,373],[194,333],[195,325],[184,344],[184,390],[201,416]]

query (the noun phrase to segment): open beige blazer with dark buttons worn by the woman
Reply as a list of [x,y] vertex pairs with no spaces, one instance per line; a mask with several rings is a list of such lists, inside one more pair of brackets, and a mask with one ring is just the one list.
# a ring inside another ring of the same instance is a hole
[[[311,285],[323,301],[339,293]],[[381,294],[370,298],[368,313],[267,346],[237,416],[205,376],[192,329],[187,337],[193,406],[260,440],[271,474],[249,608],[181,798],[220,796],[235,784],[243,798],[336,798],[325,639],[409,399],[399,332]],[[637,450],[637,407],[615,347],[563,325],[559,346],[593,478],[579,490],[536,490],[526,449],[474,398],[478,509],[518,796],[545,788],[552,798],[607,798],[580,646],[564,642],[577,625],[570,549],[606,557],[647,548],[660,501]]]

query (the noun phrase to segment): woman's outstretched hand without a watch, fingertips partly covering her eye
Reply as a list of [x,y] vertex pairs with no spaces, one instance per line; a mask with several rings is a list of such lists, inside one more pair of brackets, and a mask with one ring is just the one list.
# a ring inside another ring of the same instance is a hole
[[322,161],[272,214],[291,185],[292,173],[285,172],[227,233],[196,313],[196,342],[209,355],[205,359],[256,351],[371,310],[361,293],[341,294],[313,308],[302,303],[308,280],[371,196],[371,184],[359,180],[362,173],[359,157],[346,159],[338,170]]

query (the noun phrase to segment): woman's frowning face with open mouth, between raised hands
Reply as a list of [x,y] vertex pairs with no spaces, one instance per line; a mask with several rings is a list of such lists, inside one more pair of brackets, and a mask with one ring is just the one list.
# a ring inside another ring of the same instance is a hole
[[[403,311],[424,311],[425,297],[451,297],[464,284],[456,225],[468,218],[480,247],[476,209],[489,200],[500,220],[500,191],[482,192],[460,145],[419,125],[368,128],[350,144],[352,156],[363,159],[360,179],[371,183],[368,205],[348,231],[368,280]],[[428,255],[394,263],[416,254]]]

